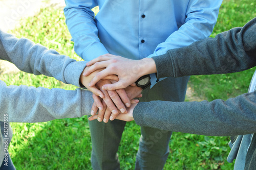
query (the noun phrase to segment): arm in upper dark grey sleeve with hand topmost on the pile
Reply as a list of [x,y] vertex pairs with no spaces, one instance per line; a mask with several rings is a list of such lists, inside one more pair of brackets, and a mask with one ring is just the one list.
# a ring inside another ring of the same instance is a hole
[[[224,74],[246,70],[256,65],[255,30],[256,18],[246,23],[243,28],[234,28],[218,34],[215,38],[206,38],[186,47],[168,50],[164,55],[152,57],[154,61],[147,59],[143,62],[145,58],[130,62],[121,57],[106,58],[103,55],[87,63],[87,65],[96,63],[91,69],[88,69],[88,73],[101,67],[107,68],[95,76],[92,80],[93,85],[95,81],[108,74],[117,74],[120,80],[129,82],[129,80],[132,80],[132,78],[129,78],[129,74],[133,71],[141,76],[141,74],[151,74],[157,70],[157,78],[164,78]],[[125,72],[117,66],[121,63],[122,65],[132,63],[135,66],[130,66],[130,68],[124,66]],[[143,66],[143,64],[146,66]],[[125,74],[121,75],[121,72]],[[115,84],[108,85],[110,87],[108,89],[113,89],[114,86]],[[117,84],[115,88],[118,87],[121,87],[121,85]]]

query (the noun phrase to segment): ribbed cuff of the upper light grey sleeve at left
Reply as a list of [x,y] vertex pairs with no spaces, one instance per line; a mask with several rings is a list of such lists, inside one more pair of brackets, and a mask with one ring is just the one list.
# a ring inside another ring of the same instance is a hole
[[86,63],[87,61],[74,61],[67,65],[64,76],[68,84],[83,88],[83,86],[80,85],[80,76],[83,69],[86,67]]

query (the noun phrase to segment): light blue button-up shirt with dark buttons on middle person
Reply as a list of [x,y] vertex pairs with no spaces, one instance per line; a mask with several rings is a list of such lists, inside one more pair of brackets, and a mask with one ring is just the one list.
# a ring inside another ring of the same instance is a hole
[[[84,60],[110,53],[130,59],[165,54],[208,37],[222,0],[65,0],[75,52]],[[99,6],[94,16],[92,8]],[[152,78],[152,84],[156,78]]]

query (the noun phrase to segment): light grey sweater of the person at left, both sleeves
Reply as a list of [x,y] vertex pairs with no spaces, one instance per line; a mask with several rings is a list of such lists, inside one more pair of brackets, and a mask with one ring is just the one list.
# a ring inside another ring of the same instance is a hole
[[[25,38],[0,31],[0,58],[14,63],[20,70],[44,74],[64,83],[79,85],[86,62],[59,55]],[[8,114],[8,122],[46,122],[55,118],[81,117],[90,114],[93,103],[88,90],[74,91],[43,87],[6,86],[0,81],[0,121]]]

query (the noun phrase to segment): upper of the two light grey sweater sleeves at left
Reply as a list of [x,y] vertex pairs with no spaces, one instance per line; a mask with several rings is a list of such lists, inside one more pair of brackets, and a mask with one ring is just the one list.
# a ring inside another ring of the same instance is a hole
[[[0,30],[0,59],[15,64],[20,70],[54,77],[66,84],[80,87],[80,75],[86,61],[76,61],[55,50],[35,44],[26,38],[16,38]],[[76,68],[76,69],[74,69]]]

